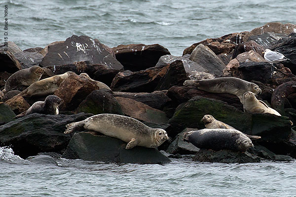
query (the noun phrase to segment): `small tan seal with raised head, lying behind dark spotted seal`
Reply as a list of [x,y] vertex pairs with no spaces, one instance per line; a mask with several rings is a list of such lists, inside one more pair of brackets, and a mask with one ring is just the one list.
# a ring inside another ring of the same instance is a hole
[[[219,120],[216,120],[212,115],[204,115],[204,117],[201,119],[201,121],[204,122],[206,129],[232,129],[236,130],[234,127],[231,127],[230,125],[227,125]],[[248,135],[244,132],[247,137],[249,137],[251,140],[260,139],[260,136],[257,135]]]

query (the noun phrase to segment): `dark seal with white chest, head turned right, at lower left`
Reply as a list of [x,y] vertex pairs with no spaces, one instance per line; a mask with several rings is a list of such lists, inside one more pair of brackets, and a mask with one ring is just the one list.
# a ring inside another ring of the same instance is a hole
[[35,102],[27,111],[22,112],[14,118],[20,118],[33,113],[57,115],[59,114],[58,107],[63,101],[64,100],[58,96],[49,95],[44,101]]

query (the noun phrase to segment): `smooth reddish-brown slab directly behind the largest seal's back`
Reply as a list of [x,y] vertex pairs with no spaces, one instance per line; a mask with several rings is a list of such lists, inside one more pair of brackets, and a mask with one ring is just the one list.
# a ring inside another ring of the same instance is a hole
[[168,121],[168,117],[163,111],[154,109],[147,104],[121,97],[115,97],[115,99],[121,105],[123,113],[132,118],[152,123],[166,123]]

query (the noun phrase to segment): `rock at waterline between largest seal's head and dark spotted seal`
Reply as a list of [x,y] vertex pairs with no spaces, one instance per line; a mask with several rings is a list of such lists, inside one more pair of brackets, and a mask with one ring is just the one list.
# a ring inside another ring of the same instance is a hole
[[183,141],[184,133],[188,131],[193,131],[193,130],[196,130],[196,129],[185,128],[184,131],[182,131],[176,136],[175,140],[170,144],[166,152],[174,155],[196,154],[199,151],[199,148],[197,148],[191,143]]

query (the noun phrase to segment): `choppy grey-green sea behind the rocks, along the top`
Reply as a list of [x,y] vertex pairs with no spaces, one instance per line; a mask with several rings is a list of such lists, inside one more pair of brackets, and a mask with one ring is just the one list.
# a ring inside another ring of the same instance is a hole
[[0,0],[4,4],[8,39],[22,49],[77,34],[110,47],[158,43],[180,56],[206,38],[267,22],[296,23],[295,0]]

